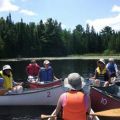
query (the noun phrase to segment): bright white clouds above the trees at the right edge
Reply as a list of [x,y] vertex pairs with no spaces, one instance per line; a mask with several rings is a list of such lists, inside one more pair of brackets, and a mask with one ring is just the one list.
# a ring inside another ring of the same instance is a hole
[[[113,6],[112,12],[120,12],[120,7]],[[97,32],[101,31],[101,29],[103,29],[105,26],[110,26],[112,29],[118,31],[120,30],[120,13],[109,18],[87,20],[86,23],[88,23],[90,26],[93,26]]]

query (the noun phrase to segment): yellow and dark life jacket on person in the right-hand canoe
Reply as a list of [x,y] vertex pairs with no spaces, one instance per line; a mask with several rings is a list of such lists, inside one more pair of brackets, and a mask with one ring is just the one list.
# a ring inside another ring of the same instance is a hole
[[96,69],[97,71],[97,78],[101,81],[107,81],[108,80],[108,74],[107,74],[107,69],[106,67],[101,71],[99,67]]

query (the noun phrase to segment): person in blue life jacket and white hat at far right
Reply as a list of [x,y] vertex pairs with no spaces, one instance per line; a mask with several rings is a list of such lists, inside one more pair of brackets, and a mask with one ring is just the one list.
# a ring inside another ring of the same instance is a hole
[[119,71],[114,58],[109,58],[109,62],[107,63],[106,68],[110,72],[110,77],[117,77]]

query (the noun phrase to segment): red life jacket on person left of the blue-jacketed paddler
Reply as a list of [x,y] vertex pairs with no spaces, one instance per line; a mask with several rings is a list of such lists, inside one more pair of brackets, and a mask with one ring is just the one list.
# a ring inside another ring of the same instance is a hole
[[29,64],[27,66],[27,73],[28,75],[31,75],[31,76],[37,76],[38,75],[38,72],[39,72],[39,69],[40,69],[40,66],[38,64]]

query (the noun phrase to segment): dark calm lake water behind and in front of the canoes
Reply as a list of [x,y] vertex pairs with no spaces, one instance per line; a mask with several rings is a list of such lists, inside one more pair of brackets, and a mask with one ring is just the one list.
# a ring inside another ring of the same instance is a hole
[[[15,81],[26,81],[26,65],[30,61],[0,61],[0,69],[5,64],[10,64],[13,69]],[[37,61],[40,66],[43,66],[43,60]],[[116,61],[118,67],[120,61]],[[84,77],[88,77],[94,73],[96,68],[96,60],[51,60],[51,65],[54,68],[54,73],[58,78],[65,78],[71,72],[78,72]],[[40,114],[51,114],[54,108],[49,106],[10,106],[0,107],[0,120],[40,120]]]

